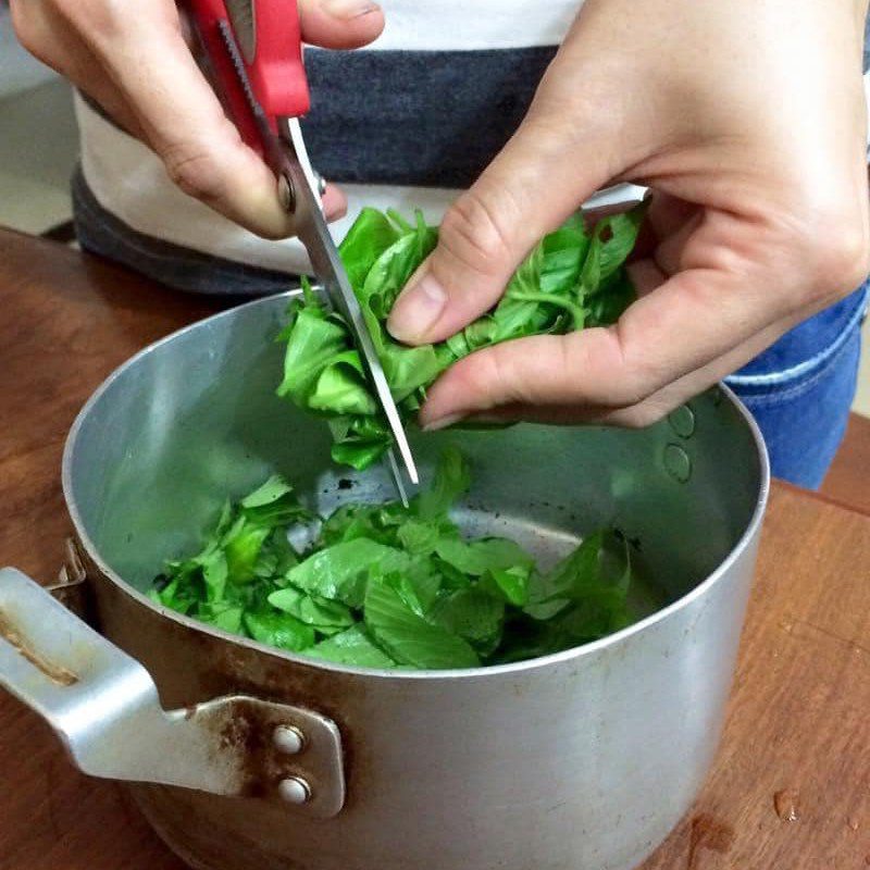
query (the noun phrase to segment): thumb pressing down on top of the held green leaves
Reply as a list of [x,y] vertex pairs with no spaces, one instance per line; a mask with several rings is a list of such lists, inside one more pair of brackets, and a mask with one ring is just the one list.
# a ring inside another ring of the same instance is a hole
[[566,116],[540,102],[542,91],[445,214],[437,248],[390,312],[387,328],[398,340],[440,341],[492,308],[532,248],[617,174],[606,130],[592,129],[584,112]]

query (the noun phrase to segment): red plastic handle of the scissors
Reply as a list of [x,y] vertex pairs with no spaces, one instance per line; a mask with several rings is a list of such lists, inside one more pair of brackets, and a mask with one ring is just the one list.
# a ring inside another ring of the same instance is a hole
[[227,22],[234,33],[253,97],[260,103],[273,130],[276,128],[275,119],[306,114],[310,98],[308,77],[302,64],[302,35],[296,0],[247,2],[251,10],[252,39],[249,35],[243,36],[236,32],[225,0],[186,0],[185,7],[192,15],[192,23],[200,35],[211,63],[212,75],[216,79],[213,84],[220,89],[226,110],[241,138],[262,153],[263,144],[259,128],[224,44],[221,22]]

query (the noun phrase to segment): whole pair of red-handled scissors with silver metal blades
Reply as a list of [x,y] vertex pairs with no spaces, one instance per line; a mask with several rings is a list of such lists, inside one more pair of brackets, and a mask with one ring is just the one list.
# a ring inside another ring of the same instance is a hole
[[[308,158],[299,117],[310,107],[296,0],[187,0],[202,62],[243,140],[275,173],[318,282],[353,336],[411,483],[419,482],[408,436],[321,206],[323,179]],[[395,450],[388,460],[408,498]]]

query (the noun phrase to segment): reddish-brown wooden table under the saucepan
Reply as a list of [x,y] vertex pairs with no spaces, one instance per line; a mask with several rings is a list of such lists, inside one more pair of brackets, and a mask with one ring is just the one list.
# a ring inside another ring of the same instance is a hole
[[[59,468],[78,408],[134,351],[217,303],[2,231],[0,301],[0,559],[48,581],[69,529]],[[77,773],[5,695],[0,775],[0,870],[182,870],[119,787]],[[726,868],[870,868],[870,512],[784,485],[714,770],[644,865]]]

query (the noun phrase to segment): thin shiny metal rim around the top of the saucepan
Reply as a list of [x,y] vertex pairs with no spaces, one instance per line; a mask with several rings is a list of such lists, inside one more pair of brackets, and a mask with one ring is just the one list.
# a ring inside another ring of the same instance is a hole
[[127,369],[130,369],[134,365],[136,365],[141,359],[147,357],[149,353],[157,351],[164,344],[174,341],[182,335],[185,335],[188,332],[201,327],[203,323],[208,323],[210,321],[214,321],[221,318],[233,316],[239,309],[254,308],[257,306],[264,306],[264,304],[275,304],[275,301],[278,299],[288,300],[294,296],[297,296],[298,294],[299,294],[298,290],[290,290],[288,293],[279,294],[277,296],[269,296],[260,299],[254,299],[241,306],[236,306],[234,308],[227,309],[226,311],[221,311],[216,314],[212,314],[211,316],[197,321],[196,323],[191,323],[188,326],[177,330],[174,333],[171,333],[170,335],[148,345],[148,347],[144,348],[138,353],[130,357],[126,362],[122,363],[102,382],[102,384],[100,384],[99,387],[97,387],[97,389],[91,394],[90,398],[85,402],[85,405],[82,407],[82,410],[76,415],[76,419],[73,422],[72,427],[70,428],[70,433],[66,436],[66,442],[63,449],[61,481],[63,486],[64,499],[66,501],[66,507],[70,512],[70,517],[73,521],[73,525],[75,527],[75,532],[76,535],[78,536],[78,539],[80,540],[83,547],[85,548],[88,557],[94,561],[94,563],[99,568],[99,570],[112,583],[114,583],[119,587],[121,592],[123,592],[126,595],[129,595],[141,606],[154,610],[156,612],[160,613],[166,619],[174,620],[175,622],[184,625],[185,627],[194,629],[196,631],[212,635],[213,637],[217,637],[220,639],[229,641],[231,643],[248,647],[250,649],[257,650],[258,652],[266,654],[278,659],[284,659],[286,661],[296,664],[302,664],[308,668],[315,668],[321,671],[332,671],[335,673],[343,673],[343,674],[356,674],[358,676],[365,676],[376,680],[391,680],[400,682],[418,681],[418,680],[430,680],[430,681],[474,680],[486,676],[510,675],[524,671],[545,669],[548,668],[549,666],[559,664],[568,660],[580,659],[586,656],[593,656],[599,652],[600,650],[606,649],[607,647],[616,646],[622,643],[623,641],[632,637],[633,635],[639,634],[641,632],[646,631],[652,625],[657,625],[658,623],[663,622],[664,620],[669,619],[672,614],[681,611],[685,607],[688,607],[696,598],[699,598],[700,596],[705,595],[707,591],[720,580],[720,577],[725,575],[729,572],[731,566],[737,560],[739,555],[748,545],[748,543],[756,535],[758,527],[761,525],[768,502],[768,497],[770,494],[770,462],[768,459],[767,448],[765,446],[761,432],[758,428],[758,424],[756,423],[755,419],[749,413],[749,411],[746,409],[744,403],[725,384],[720,384],[719,388],[723,391],[726,399],[731,401],[731,403],[737,409],[741,417],[748,426],[749,432],[751,433],[753,436],[753,443],[756,447],[756,455],[760,467],[759,469],[760,486],[759,486],[758,499],[756,501],[751,519],[749,520],[749,523],[744,530],[744,533],[741,535],[739,539],[731,549],[731,551],[728,554],[728,556],[725,556],[725,558],[719,563],[719,566],[700,583],[695,585],[684,596],[678,598],[675,601],[672,601],[670,605],[662,608],[661,610],[657,610],[655,613],[651,613],[650,616],[642,619],[639,622],[635,622],[625,629],[622,629],[618,632],[614,632],[613,634],[608,635],[607,637],[602,637],[600,641],[595,641],[593,643],[585,644],[584,646],[573,647],[571,649],[564,649],[561,652],[554,652],[549,656],[543,656],[535,659],[527,659],[525,661],[513,662],[510,664],[494,664],[489,667],[468,668],[463,670],[394,671],[394,670],[382,670],[375,668],[357,668],[349,666],[340,666],[340,664],[334,664],[332,662],[319,661],[316,659],[307,658],[304,656],[294,655],[291,652],[286,652],[284,650],[276,649],[274,647],[266,646],[264,644],[259,644],[256,641],[249,641],[246,637],[239,637],[238,635],[231,634],[229,632],[225,632],[222,631],[221,629],[215,629],[211,625],[199,622],[195,619],[191,619],[190,617],[186,617],[183,616],[182,613],[169,610],[167,608],[160,607],[159,605],[154,604],[154,601],[152,601],[150,598],[148,598],[146,595],[142,595],[142,593],[140,593],[138,589],[134,588],[130,584],[126,583],[123,580],[123,577],[116,574],[103,561],[102,557],[99,554],[99,550],[97,549],[90,536],[87,534],[85,530],[84,522],[78,511],[78,506],[76,505],[75,498],[73,496],[73,482],[72,482],[72,470],[71,470],[72,457],[73,453],[75,452],[76,442],[78,439],[82,425],[85,419],[90,413],[91,408],[100,400],[102,395],[109,389],[109,387],[114,383],[114,381],[117,377],[120,377]]

